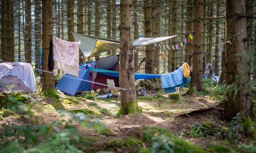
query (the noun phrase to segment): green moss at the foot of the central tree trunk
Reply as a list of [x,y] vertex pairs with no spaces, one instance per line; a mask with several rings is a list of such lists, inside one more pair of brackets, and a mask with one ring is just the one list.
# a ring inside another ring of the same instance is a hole
[[126,107],[121,106],[120,110],[117,112],[117,116],[136,113],[136,112],[139,112],[139,106],[136,100],[132,100],[126,104]]

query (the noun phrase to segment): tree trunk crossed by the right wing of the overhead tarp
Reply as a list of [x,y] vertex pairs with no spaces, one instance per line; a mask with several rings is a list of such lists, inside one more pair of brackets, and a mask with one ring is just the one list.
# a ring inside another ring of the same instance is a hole
[[[152,16],[151,16],[151,0],[145,0],[144,2],[144,28],[145,37],[152,37]],[[152,45],[145,46],[146,60],[145,60],[145,73],[154,74],[154,52]]]

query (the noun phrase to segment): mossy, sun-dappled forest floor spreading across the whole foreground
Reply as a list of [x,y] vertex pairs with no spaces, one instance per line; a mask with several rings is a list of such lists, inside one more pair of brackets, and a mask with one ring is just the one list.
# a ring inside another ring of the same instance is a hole
[[[211,87],[210,81],[204,81],[207,83],[204,86],[208,90],[195,92],[193,95],[182,95],[189,86],[181,88],[180,93],[172,94],[164,93],[161,89],[148,90],[147,96],[137,97],[141,112],[131,112],[128,115],[117,115],[121,108],[120,99],[117,97],[102,99],[90,92],[70,96],[59,94],[54,89],[43,93],[14,91],[9,94],[8,104],[4,99],[5,95],[1,94],[3,108],[0,109],[2,125],[0,141],[4,144],[4,139],[7,140],[5,138],[7,127],[4,125],[15,124],[33,128],[40,125],[35,132],[61,133],[60,136],[65,134],[69,139],[49,135],[47,141],[52,144],[45,142],[44,136],[40,135],[38,143],[49,148],[55,144],[54,149],[56,149],[56,146],[59,146],[56,141],[61,139],[59,140],[61,143],[68,142],[65,143],[65,149],[69,151],[74,151],[74,147],[83,152],[253,152],[256,150],[253,139],[256,137],[255,121],[250,120],[248,116],[239,122],[230,123],[222,120],[218,109],[215,108],[189,111],[216,106],[223,98],[220,94],[222,89]],[[186,110],[188,112],[185,112]],[[47,128],[44,130],[42,125],[47,125]],[[239,131],[239,125],[244,133]],[[65,133],[65,130],[72,135]],[[20,135],[20,139],[23,139],[23,136],[24,133]],[[25,140],[20,141],[19,148],[22,148],[20,150],[27,150],[28,148],[23,144]],[[11,144],[6,146],[9,147]],[[30,143],[29,146],[41,149],[36,143]]]

